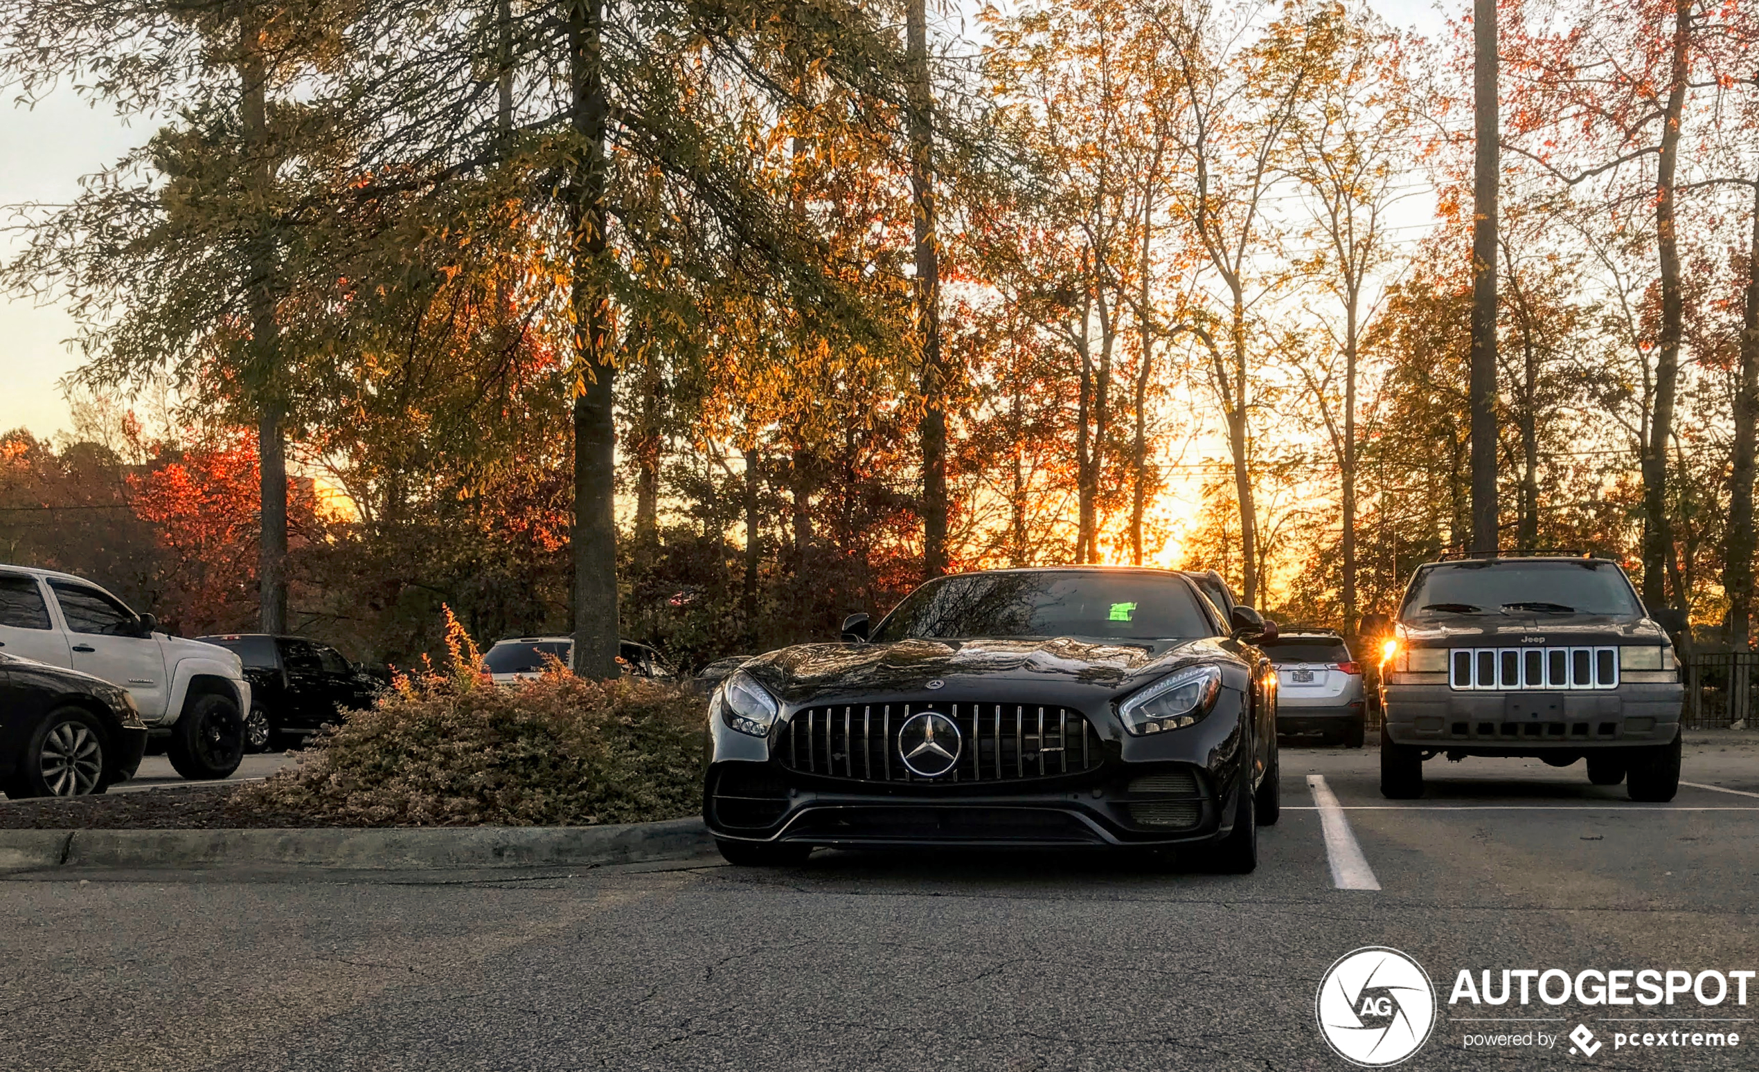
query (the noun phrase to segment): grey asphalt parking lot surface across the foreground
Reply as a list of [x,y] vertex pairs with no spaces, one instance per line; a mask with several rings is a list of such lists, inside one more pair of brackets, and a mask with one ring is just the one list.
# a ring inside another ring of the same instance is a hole
[[[1449,1003],[1460,970],[1759,968],[1759,740],[1685,752],[1713,787],[1632,805],[1581,764],[1490,759],[1430,761],[1423,800],[1386,801],[1372,747],[1286,749],[1288,810],[1244,877],[976,852],[16,873],[0,1068],[1347,1068],[1314,998],[1363,945],[1435,986],[1402,1068],[1752,1067],[1759,981],[1748,1005]],[[1316,777],[1379,889],[1337,886]],[[1638,1030],[1743,1037],[1615,1049]]]

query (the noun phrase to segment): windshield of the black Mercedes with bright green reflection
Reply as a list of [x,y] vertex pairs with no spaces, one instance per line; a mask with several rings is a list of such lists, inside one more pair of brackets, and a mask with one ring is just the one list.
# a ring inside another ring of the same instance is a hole
[[1214,636],[1196,594],[1154,573],[1008,571],[932,580],[887,615],[874,641]]

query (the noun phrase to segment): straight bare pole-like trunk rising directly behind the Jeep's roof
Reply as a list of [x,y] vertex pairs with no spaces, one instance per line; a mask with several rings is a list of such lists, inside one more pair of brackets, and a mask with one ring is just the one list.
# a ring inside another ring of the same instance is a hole
[[1472,185],[1472,550],[1497,550],[1497,0],[1472,4],[1478,146]]

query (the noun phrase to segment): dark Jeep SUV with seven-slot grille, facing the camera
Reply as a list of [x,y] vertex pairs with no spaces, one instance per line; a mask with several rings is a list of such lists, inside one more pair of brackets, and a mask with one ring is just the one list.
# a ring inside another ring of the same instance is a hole
[[1668,633],[1611,559],[1523,555],[1418,566],[1383,664],[1381,794],[1423,793],[1446,754],[1588,761],[1631,800],[1680,787],[1685,689]]

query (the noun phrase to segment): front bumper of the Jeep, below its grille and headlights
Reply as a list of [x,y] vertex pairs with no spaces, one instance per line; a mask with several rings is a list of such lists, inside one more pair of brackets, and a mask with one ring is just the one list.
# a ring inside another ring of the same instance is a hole
[[1683,701],[1680,684],[1580,692],[1381,685],[1393,743],[1485,756],[1662,745],[1680,729]]

